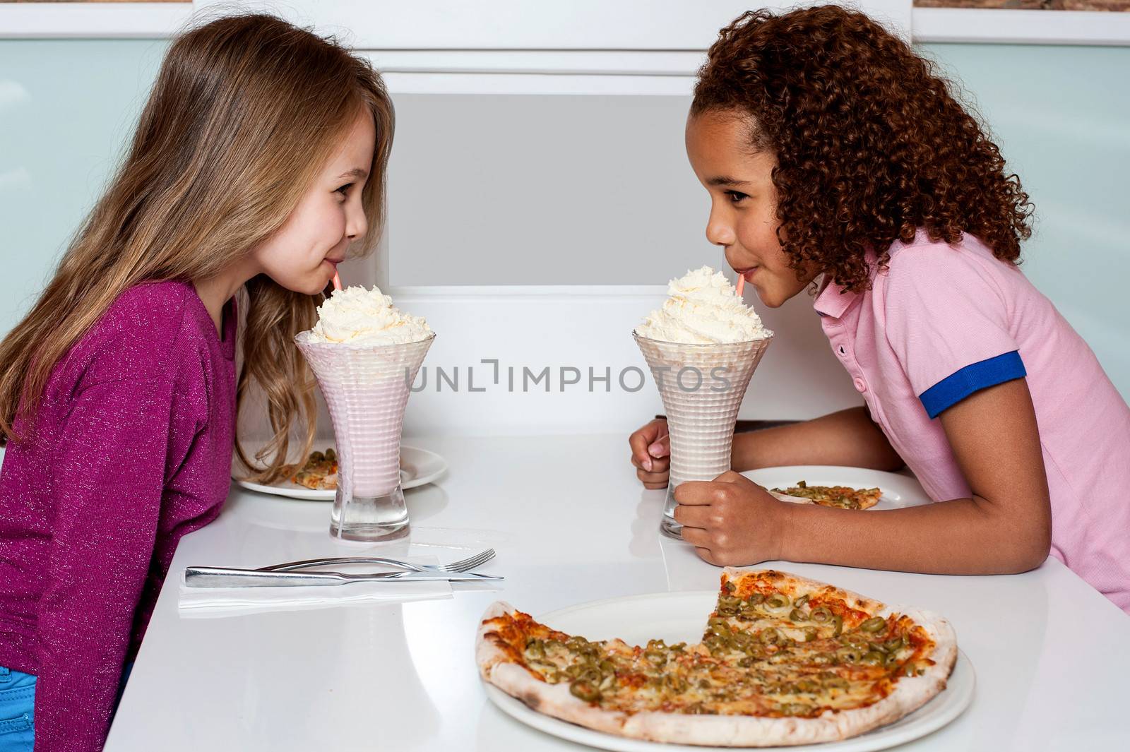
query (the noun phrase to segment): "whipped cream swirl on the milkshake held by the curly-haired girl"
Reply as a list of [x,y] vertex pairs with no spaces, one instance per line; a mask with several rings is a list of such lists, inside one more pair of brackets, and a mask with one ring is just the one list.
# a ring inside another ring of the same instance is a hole
[[668,298],[636,327],[636,334],[661,342],[712,344],[772,336],[760,316],[738,297],[720,271],[703,266],[667,286]]

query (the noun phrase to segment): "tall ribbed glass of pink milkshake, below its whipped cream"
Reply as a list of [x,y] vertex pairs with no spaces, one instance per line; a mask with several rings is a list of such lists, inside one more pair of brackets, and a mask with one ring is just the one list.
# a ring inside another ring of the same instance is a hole
[[338,491],[330,535],[350,541],[391,541],[408,535],[400,489],[400,434],[405,406],[434,333],[416,342],[357,344],[295,342],[306,357],[333,421]]

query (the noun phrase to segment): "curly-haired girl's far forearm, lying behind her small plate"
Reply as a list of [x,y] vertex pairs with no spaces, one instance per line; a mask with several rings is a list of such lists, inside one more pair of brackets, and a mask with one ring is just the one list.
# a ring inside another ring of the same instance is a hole
[[790,426],[737,434],[733,470],[783,465],[845,465],[898,470],[903,460],[871,420],[867,408],[850,408]]

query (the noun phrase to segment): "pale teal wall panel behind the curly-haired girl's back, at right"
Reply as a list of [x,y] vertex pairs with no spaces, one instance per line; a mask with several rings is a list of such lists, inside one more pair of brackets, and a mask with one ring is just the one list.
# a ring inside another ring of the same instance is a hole
[[929,44],[1036,207],[1025,274],[1130,400],[1130,47]]

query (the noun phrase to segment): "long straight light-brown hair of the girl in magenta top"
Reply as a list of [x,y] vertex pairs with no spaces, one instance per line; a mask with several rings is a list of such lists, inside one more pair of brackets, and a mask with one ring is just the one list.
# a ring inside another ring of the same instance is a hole
[[[393,112],[380,76],[332,38],[264,15],[231,16],[169,47],[129,152],[31,313],[0,343],[0,434],[19,440],[55,365],[124,290],[150,280],[203,280],[268,239],[370,112],[376,148],[362,194],[367,253],[384,219]],[[289,472],[289,437],[314,436],[314,382],[294,335],[321,296],[266,276],[245,286],[237,401],[262,388],[275,435],[249,457],[253,478]],[[17,432],[17,426],[19,431]]]

